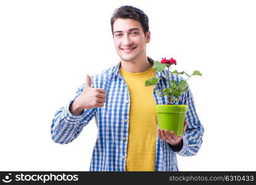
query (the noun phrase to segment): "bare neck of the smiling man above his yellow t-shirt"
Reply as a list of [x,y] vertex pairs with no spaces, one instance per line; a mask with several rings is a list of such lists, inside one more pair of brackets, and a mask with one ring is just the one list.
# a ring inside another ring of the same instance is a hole
[[147,57],[140,60],[125,61],[121,60],[120,68],[130,73],[142,73],[149,70],[152,67],[151,62],[147,60]]

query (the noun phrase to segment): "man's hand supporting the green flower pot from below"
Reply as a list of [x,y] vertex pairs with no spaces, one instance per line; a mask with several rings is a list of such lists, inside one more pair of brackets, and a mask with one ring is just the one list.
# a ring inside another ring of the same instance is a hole
[[[183,134],[186,131],[187,124],[188,122],[184,121]],[[168,144],[170,144],[173,147],[180,146],[181,139],[183,138],[183,136],[177,136],[174,131],[170,132],[167,129],[157,129],[157,136],[163,141],[168,142]]]

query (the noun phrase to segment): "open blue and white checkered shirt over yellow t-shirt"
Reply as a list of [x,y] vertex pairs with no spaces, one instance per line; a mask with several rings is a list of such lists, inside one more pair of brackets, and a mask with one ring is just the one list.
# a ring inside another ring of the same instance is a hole
[[[149,62],[154,62],[148,58]],[[68,102],[65,107],[59,109],[51,124],[51,136],[54,142],[67,144],[72,142],[83,130],[90,120],[95,118],[98,133],[97,141],[94,146],[93,156],[91,158],[90,171],[125,171],[127,144],[128,144],[128,126],[130,112],[130,96],[125,81],[120,75],[120,62],[117,65],[104,70],[101,74],[91,76],[92,88],[101,88],[106,91],[106,102],[104,107],[94,109],[85,109],[82,115],[72,115],[69,111],[70,103],[76,97],[80,96],[86,84],[83,84],[76,96]],[[166,72],[167,69],[165,69]],[[163,72],[155,72],[159,78],[161,86],[167,88],[167,78]],[[170,75],[171,80],[181,80],[179,76]],[[154,86],[155,104],[167,104],[167,97],[157,96],[159,86]],[[188,91],[181,94],[181,99],[177,104],[188,105],[186,120],[188,126],[183,135],[183,147],[176,151],[167,142],[159,139],[157,135],[155,171],[178,171],[176,154],[182,156],[196,155],[201,144],[204,128],[197,117],[196,108],[192,93]],[[139,106],[139,105],[138,105]]]

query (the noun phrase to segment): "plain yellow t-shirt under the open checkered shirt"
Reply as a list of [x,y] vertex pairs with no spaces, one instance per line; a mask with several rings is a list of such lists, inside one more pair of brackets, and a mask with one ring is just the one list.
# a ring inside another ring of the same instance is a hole
[[142,73],[130,73],[120,68],[130,94],[130,118],[126,171],[155,171],[157,114],[153,86],[145,81],[155,77],[151,67]]

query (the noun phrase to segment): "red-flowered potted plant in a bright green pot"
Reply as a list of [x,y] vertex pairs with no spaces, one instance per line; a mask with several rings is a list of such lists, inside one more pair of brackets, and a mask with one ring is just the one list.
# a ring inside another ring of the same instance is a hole
[[[177,70],[171,72],[171,65],[176,65],[176,60],[171,59],[162,59],[161,62],[155,61],[153,69],[157,72],[164,72],[167,77],[168,87],[163,88],[159,86],[160,78],[151,78],[145,81],[145,86],[157,85],[160,87],[160,91],[157,92],[157,95],[160,97],[167,96],[168,104],[167,105],[155,105],[155,110],[157,112],[157,120],[159,122],[159,128],[163,130],[175,131],[177,136],[183,135],[183,125],[186,117],[186,112],[188,110],[188,105],[176,105],[174,102],[179,101],[181,93],[187,91],[187,80],[191,76],[202,74],[199,71],[194,71],[192,75],[188,75],[186,72],[177,72]],[[165,68],[168,68],[168,73]],[[170,75],[176,74],[176,79],[171,80]],[[186,75],[186,80],[178,80],[178,75]]]

